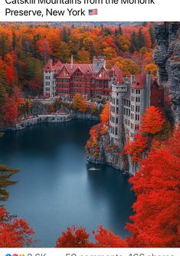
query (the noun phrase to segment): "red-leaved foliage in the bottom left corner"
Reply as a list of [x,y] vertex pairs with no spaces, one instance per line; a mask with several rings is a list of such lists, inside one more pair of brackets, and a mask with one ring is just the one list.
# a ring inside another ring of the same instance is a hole
[[23,219],[11,218],[5,208],[0,207],[0,248],[22,248],[34,241],[32,228]]

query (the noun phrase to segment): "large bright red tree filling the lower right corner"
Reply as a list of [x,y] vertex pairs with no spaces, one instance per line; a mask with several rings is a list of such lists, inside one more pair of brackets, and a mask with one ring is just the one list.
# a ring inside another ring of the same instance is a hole
[[180,246],[180,130],[162,148],[142,159],[141,168],[130,178],[136,203],[130,247]]

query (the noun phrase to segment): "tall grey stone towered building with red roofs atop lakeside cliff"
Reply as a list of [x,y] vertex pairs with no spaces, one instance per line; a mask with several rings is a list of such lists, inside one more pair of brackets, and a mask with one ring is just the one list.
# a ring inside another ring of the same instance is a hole
[[164,89],[149,72],[114,82],[110,96],[111,143],[123,147],[123,140],[134,139],[141,116],[150,105],[163,109]]

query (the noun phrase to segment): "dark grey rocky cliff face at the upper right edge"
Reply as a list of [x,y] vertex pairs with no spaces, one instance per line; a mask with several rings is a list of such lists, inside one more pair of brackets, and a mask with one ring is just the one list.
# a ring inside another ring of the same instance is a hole
[[159,67],[159,82],[168,88],[172,117],[180,121],[180,22],[165,22],[155,26],[155,64]]

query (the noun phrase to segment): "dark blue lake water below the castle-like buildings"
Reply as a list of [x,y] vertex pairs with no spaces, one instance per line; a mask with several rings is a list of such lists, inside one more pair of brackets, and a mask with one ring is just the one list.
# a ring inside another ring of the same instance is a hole
[[93,231],[102,224],[123,238],[135,200],[127,178],[103,165],[88,171],[84,147],[93,121],[39,124],[0,140],[0,163],[21,171],[5,207],[25,218],[39,247],[54,247],[68,226]]

